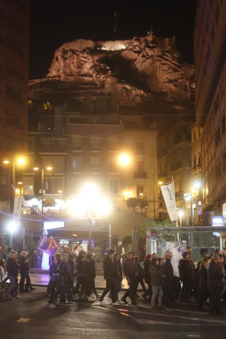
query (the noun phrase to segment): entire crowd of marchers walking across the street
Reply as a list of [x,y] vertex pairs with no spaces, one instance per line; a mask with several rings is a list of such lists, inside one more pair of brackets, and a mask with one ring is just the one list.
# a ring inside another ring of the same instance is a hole
[[[205,250],[204,250],[205,249]],[[226,251],[216,250],[211,257],[205,247],[200,250],[201,261],[195,267],[192,249],[187,248],[179,261],[178,277],[172,265],[173,253],[166,251],[164,257],[156,253],[148,254],[141,264],[131,252],[125,256],[121,245],[110,249],[105,258],[104,279],[106,287],[102,295],[98,295],[95,287],[95,261],[91,252],[86,252],[81,246],[64,245],[59,248],[54,257],[49,257],[50,281],[47,293],[48,303],[72,305],[78,300],[99,300],[104,304],[107,296],[108,303],[120,305],[137,305],[138,285],[143,293],[140,297],[151,303],[151,308],[157,310],[169,308],[175,300],[183,303],[196,302],[199,310],[209,309],[209,314],[221,314],[221,300],[226,302]],[[3,266],[6,264],[7,277],[4,278]],[[28,250],[24,249],[17,257],[17,252],[10,248],[7,256],[1,254],[0,248],[0,278],[3,287],[9,279],[10,285],[4,291],[5,298],[18,299],[18,272],[20,272],[19,292],[27,293],[34,288],[29,276]],[[126,277],[128,290],[120,298],[121,282]],[[26,283],[25,283],[26,280]],[[60,299],[59,299],[60,298]],[[67,301],[67,302],[66,302]]]

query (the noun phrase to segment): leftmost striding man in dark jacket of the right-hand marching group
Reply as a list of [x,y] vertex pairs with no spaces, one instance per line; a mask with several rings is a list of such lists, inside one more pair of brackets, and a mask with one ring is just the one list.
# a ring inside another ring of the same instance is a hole
[[109,249],[108,255],[104,261],[104,278],[106,280],[106,288],[100,297],[101,304],[103,304],[104,297],[109,291],[111,291],[112,303],[116,303],[115,279],[117,273],[113,265],[114,253],[114,249]]

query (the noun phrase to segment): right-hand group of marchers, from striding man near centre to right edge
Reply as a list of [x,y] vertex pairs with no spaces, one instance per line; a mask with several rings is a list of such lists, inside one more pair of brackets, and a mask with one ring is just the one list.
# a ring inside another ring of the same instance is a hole
[[117,255],[110,249],[105,259],[106,288],[100,297],[101,303],[104,303],[105,295],[110,292],[113,305],[127,304],[128,296],[132,305],[137,305],[137,287],[140,283],[144,292],[142,297],[151,302],[153,309],[169,308],[178,299],[183,303],[196,302],[200,311],[209,309],[210,315],[222,313],[221,300],[226,301],[226,251],[216,250],[211,257],[208,252],[201,251],[202,260],[195,267],[192,249],[188,247],[179,261],[179,277],[174,274],[172,252],[166,251],[163,258],[158,258],[156,253],[148,254],[143,267],[129,252],[122,263],[129,289],[121,300],[118,298],[121,289],[118,277],[122,277],[122,269],[119,264],[114,264]]

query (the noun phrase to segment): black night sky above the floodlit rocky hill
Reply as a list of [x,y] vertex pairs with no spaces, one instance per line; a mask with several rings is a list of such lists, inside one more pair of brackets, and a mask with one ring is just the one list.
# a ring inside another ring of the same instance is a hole
[[30,79],[45,77],[54,51],[76,39],[113,40],[145,36],[151,27],[161,37],[176,36],[185,62],[193,63],[197,0],[76,1],[31,0]]

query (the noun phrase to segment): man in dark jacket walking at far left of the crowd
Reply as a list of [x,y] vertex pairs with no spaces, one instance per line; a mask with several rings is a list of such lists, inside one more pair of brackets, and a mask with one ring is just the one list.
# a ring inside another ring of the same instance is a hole
[[17,252],[11,251],[10,257],[7,260],[7,273],[10,280],[10,286],[4,292],[4,297],[8,298],[11,295],[12,300],[19,299],[17,295],[17,284],[18,284],[18,264],[17,264]]

